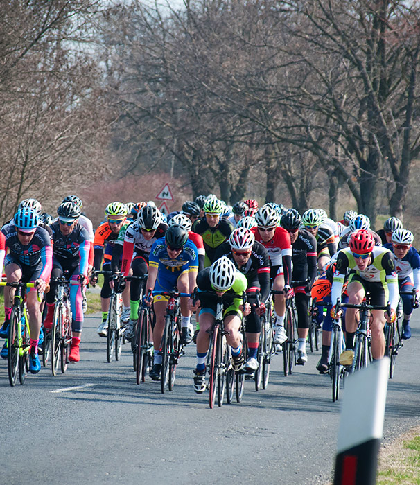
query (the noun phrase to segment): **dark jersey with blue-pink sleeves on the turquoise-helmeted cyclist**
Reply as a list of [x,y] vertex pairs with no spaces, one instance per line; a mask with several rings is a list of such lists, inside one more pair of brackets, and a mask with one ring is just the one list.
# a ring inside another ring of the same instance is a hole
[[17,263],[33,269],[40,265],[38,277],[48,281],[53,257],[49,233],[42,227],[37,227],[30,243],[23,245],[17,236],[15,224],[8,224],[2,231],[5,236],[5,246],[9,248],[6,264]]

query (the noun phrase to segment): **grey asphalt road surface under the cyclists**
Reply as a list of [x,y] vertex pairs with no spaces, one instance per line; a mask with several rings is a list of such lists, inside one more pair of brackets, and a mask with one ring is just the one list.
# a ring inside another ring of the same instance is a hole
[[[106,362],[98,317],[85,321],[82,360],[53,377],[49,368],[10,387],[0,362],[0,483],[324,484],[333,473],[340,403],[319,353],[284,377],[272,362],[267,390],[246,382],[243,402],[209,409],[192,387],[195,346],[177,368],[173,392],[136,385],[129,346]],[[420,423],[420,321],[390,380],[384,441]],[[68,389],[80,386],[77,389]]]

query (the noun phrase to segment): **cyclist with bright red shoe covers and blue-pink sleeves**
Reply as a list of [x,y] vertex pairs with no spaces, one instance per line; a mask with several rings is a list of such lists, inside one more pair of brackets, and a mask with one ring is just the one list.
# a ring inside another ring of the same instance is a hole
[[[63,202],[57,209],[58,220],[53,222],[53,270],[51,276],[60,278],[65,271],[69,272],[69,280],[75,283],[70,285],[71,304],[71,347],[69,360],[80,360],[79,346],[82,335],[82,285],[87,283],[89,265],[89,233],[78,223],[80,207],[74,202]],[[76,281],[78,283],[76,284]],[[45,295],[46,317],[44,328],[53,326],[55,288],[58,283],[51,281],[50,290]]]

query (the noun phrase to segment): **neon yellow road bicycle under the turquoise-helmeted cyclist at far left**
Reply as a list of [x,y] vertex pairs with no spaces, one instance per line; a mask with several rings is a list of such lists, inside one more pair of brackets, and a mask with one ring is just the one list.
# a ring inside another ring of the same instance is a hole
[[8,328],[8,377],[10,385],[15,386],[19,375],[19,382],[23,385],[28,373],[28,353],[30,350],[30,330],[25,290],[26,288],[36,288],[36,283],[23,283],[22,281],[6,283],[1,281],[0,286],[16,288]]

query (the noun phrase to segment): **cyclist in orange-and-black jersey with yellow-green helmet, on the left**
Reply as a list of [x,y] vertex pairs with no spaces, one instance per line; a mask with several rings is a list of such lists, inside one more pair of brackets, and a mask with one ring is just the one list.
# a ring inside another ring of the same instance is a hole
[[[118,238],[119,231],[123,224],[125,224],[125,216],[127,215],[127,207],[122,202],[111,202],[105,208],[105,215],[107,220],[99,225],[98,229],[95,231],[94,239],[94,270],[99,271],[102,260],[104,263],[102,266],[103,271],[112,271],[112,252],[114,250],[115,242]],[[105,248],[105,254],[104,254]],[[98,281],[97,277],[94,276],[91,279],[92,283]],[[108,308],[110,306],[110,296],[111,296],[111,276],[110,274],[103,275],[103,286],[100,290],[100,308],[102,310],[102,322],[98,326],[98,335],[100,337],[107,336],[107,319],[108,319]],[[128,295],[130,292],[130,285],[127,285],[123,292],[123,305],[128,308]]]

